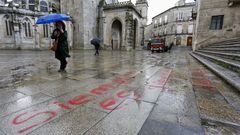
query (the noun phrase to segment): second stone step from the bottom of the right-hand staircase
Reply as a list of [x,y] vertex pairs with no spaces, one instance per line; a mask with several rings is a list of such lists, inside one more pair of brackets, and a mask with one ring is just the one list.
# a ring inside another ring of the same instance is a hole
[[197,55],[200,55],[224,68],[228,68],[229,70],[232,70],[233,72],[236,72],[240,75],[240,62],[236,60],[226,59],[218,56],[214,56],[208,53],[203,52],[194,52]]

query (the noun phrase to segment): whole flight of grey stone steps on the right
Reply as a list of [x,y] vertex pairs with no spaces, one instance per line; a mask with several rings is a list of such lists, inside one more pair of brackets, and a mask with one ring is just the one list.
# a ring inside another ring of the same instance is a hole
[[240,91],[240,38],[214,43],[190,54]]

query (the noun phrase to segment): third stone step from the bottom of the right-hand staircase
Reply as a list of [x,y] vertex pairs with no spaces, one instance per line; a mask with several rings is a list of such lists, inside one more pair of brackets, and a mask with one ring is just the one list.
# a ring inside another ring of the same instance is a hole
[[221,58],[236,60],[237,62],[240,62],[240,54],[238,53],[227,53],[227,52],[219,52],[219,51],[209,51],[205,49],[197,50],[197,52],[202,52],[205,54],[211,54],[214,56],[219,56]]

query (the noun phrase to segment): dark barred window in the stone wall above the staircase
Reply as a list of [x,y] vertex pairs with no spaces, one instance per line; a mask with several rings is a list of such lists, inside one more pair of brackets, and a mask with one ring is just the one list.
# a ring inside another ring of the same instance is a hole
[[222,26],[223,26],[223,19],[224,19],[223,15],[212,16],[210,29],[211,30],[221,30]]

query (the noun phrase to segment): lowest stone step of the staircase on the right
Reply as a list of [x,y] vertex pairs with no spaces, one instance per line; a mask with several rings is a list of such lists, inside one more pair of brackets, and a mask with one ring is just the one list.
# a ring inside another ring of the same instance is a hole
[[222,79],[224,79],[227,83],[229,83],[231,86],[236,88],[238,91],[240,91],[240,76],[238,73],[233,72],[227,68],[224,68],[220,65],[217,65],[216,63],[205,59],[204,57],[198,55],[198,53],[190,53],[194,58],[196,58],[199,62],[204,64],[206,67],[208,67],[210,70],[212,70],[215,74],[220,76]]

